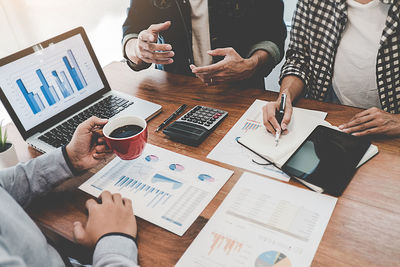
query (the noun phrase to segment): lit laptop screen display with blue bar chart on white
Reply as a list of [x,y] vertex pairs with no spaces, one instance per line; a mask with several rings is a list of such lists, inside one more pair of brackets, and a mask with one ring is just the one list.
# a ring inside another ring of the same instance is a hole
[[0,66],[0,88],[25,131],[105,87],[81,34],[32,48]]

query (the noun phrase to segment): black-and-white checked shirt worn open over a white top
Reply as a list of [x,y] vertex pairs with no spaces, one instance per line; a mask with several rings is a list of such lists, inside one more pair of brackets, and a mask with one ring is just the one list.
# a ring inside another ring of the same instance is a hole
[[[390,9],[377,55],[379,99],[384,111],[400,113],[400,0],[380,1]],[[346,0],[299,0],[281,80],[296,75],[305,83],[306,97],[325,100],[346,24]]]

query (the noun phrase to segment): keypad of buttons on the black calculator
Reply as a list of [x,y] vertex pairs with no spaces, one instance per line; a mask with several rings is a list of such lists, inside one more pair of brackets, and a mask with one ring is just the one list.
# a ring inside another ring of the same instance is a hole
[[226,115],[227,112],[223,110],[204,107],[204,106],[195,106],[184,116],[182,116],[178,121],[190,122],[211,129]]

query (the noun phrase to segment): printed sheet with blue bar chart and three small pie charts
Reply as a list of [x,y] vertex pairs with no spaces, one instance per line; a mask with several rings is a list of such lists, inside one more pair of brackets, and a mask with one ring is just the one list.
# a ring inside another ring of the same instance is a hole
[[232,174],[147,144],[139,158],[115,158],[79,189],[95,197],[120,193],[137,216],[182,236]]

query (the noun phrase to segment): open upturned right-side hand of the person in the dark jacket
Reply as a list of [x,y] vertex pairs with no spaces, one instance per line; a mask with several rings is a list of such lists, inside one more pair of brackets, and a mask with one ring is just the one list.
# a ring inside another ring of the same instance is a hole
[[251,77],[257,62],[242,58],[233,48],[219,48],[208,51],[210,56],[223,56],[223,60],[204,67],[190,65],[192,72],[207,85],[245,80]]

